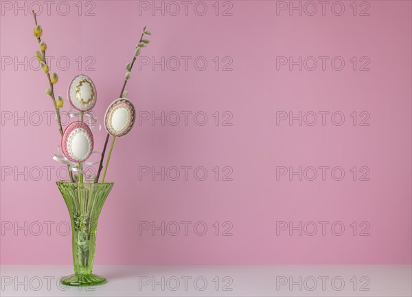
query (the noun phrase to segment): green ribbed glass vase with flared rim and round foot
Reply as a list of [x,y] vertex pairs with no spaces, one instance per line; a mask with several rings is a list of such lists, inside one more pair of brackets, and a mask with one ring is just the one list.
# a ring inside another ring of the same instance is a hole
[[106,278],[92,274],[96,247],[96,230],[100,211],[113,183],[68,183],[58,181],[71,220],[71,248],[74,274],[60,282],[71,286],[91,286],[106,283]]

